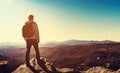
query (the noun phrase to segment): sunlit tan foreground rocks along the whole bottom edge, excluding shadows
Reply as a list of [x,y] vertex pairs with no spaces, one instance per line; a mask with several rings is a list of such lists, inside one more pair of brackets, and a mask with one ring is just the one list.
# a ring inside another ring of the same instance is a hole
[[[46,61],[46,60],[44,60]],[[120,69],[117,71],[109,70],[105,67],[92,67],[85,71],[79,71],[77,69],[72,68],[56,68],[56,72],[54,72],[50,66],[50,62],[46,61],[46,67],[50,72],[45,72],[37,63],[35,59],[31,59],[30,61],[31,66],[34,70],[31,70],[26,66],[26,64],[20,65],[15,71],[12,73],[120,73]]]

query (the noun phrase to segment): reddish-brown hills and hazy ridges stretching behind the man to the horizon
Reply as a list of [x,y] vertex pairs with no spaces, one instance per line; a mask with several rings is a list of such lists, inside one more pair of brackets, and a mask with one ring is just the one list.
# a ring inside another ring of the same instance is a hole
[[[0,44],[0,73],[11,73],[24,64],[25,53],[24,43]],[[83,71],[96,66],[120,69],[120,43],[110,40],[51,42],[41,44],[40,54],[60,69]],[[31,58],[35,57],[33,48],[30,55]]]

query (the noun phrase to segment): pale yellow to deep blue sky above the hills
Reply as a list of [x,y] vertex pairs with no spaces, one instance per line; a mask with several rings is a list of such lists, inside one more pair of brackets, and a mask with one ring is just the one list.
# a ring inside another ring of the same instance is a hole
[[120,41],[119,0],[0,0],[0,42],[25,42],[22,26],[33,14],[40,41]]

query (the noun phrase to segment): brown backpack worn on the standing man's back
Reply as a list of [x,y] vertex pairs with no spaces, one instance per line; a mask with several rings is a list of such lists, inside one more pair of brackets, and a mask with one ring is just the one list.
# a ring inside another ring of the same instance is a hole
[[33,29],[33,24],[34,22],[31,23],[25,23],[25,25],[22,28],[22,36],[25,37],[32,37],[34,34],[34,29]]

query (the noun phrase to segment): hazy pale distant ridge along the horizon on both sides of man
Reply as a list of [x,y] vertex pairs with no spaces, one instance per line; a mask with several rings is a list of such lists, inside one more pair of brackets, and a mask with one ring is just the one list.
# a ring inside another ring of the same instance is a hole
[[[103,40],[103,41],[96,41],[96,40],[67,40],[62,42],[49,42],[49,43],[40,43],[41,47],[53,47],[53,46],[69,46],[69,45],[93,45],[93,44],[109,44],[109,43],[120,43],[111,40]],[[14,42],[4,42],[0,43],[0,48],[4,47],[25,47],[25,43],[14,43]]]

